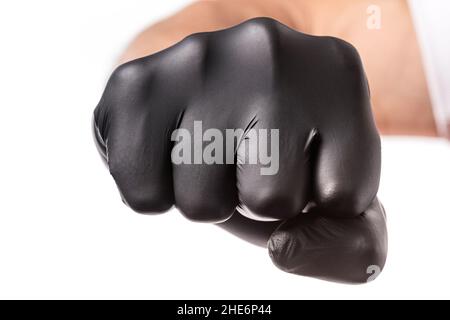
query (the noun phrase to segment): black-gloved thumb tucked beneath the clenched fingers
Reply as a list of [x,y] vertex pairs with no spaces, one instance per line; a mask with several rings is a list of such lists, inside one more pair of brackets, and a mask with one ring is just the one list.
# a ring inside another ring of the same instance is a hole
[[289,273],[323,280],[364,283],[384,267],[386,216],[375,199],[361,215],[329,218],[301,214],[283,222],[268,242],[274,264]]

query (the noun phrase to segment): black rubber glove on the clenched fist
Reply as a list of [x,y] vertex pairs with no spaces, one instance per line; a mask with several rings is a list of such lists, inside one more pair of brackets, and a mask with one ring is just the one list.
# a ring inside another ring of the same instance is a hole
[[[237,165],[173,163],[174,130],[194,136],[195,121],[224,136],[243,130],[233,146]],[[258,129],[279,130],[276,174],[239,161]],[[251,231],[264,230],[275,263],[297,274],[362,282],[369,267],[384,265],[385,218],[375,198],[380,140],[361,60],[342,40],[267,18],[194,34],[120,66],[94,130],[124,202],[137,212],[175,204],[191,220],[226,221],[251,241]]]

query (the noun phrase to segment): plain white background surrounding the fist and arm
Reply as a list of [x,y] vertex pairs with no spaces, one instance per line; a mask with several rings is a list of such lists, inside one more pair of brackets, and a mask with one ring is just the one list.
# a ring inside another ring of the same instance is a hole
[[289,275],[178,212],[133,213],[91,114],[132,35],[186,1],[0,5],[0,298],[450,298],[450,148],[383,142],[390,248],[373,283]]

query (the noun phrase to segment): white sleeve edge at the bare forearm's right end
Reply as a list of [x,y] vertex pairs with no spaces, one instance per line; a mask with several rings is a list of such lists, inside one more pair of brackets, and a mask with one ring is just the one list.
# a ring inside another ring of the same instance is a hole
[[450,1],[409,0],[439,134],[450,137]]

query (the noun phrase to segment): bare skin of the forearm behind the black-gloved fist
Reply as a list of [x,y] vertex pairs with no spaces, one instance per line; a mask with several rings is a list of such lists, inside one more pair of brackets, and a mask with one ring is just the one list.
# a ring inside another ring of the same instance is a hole
[[[382,9],[382,28],[366,26],[368,5]],[[326,10],[325,10],[326,9]],[[120,63],[165,49],[186,36],[224,29],[258,16],[299,31],[331,35],[360,52],[382,134],[436,136],[419,45],[406,0],[200,1],[139,34]]]

